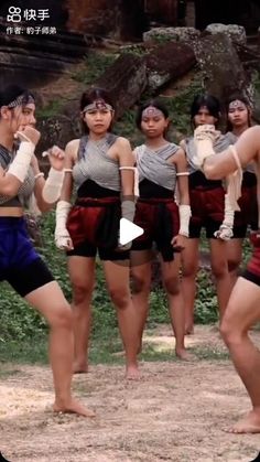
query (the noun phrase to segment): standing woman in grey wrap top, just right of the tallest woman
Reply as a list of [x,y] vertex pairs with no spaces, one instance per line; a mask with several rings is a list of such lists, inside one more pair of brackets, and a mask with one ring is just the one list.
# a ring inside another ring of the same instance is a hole
[[[175,334],[175,352],[180,358],[187,359],[178,276],[180,251],[186,246],[191,215],[187,165],[183,150],[165,138],[169,122],[169,112],[160,100],[145,103],[137,115],[137,126],[145,136],[145,142],[134,150],[140,191],[134,223],[144,234],[133,240],[131,248],[133,303],[141,345],[151,291],[151,249],[155,244]],[[174,200],[176,184],[180,207]]]

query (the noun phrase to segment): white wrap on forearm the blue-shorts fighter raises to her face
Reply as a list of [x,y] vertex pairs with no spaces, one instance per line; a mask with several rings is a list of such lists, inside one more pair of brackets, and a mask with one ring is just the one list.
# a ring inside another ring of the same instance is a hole
[[8,173],[11,173],[13,176],[17,176],[21,183],[24,182],[32,157],[34,154],[35,146],[31,141],[21,141],[17,155],[13,159]]

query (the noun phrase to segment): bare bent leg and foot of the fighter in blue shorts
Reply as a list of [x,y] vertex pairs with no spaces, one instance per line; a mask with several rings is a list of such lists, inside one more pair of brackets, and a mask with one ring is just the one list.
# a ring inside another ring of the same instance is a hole
[[73,318],[61,288],[55,281],[48,282],[26,294],[25,300],[43,314],[51,327],[50,361],[55,389],[54,411],[94,417],[91,410],[72,398]]

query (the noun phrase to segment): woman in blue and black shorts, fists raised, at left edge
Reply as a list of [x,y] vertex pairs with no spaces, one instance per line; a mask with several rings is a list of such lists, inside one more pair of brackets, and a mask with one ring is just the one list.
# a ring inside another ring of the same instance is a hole
[[[74,342],[69,304],[32,247],[23,218],[23,201],[32,194],[42,211],[58,197],[54,178],[61,178],[64,163],[61,151],[50,152],[52,169],[45,183],[34,157],[40,139],[34,112],[35,101],[28,90],[10,86],[0,93],[0,280],[7,280],[50,324],[54,411],[93,417],[94,412],[72,398]],[[15,138],[20,141],[18,148]]]

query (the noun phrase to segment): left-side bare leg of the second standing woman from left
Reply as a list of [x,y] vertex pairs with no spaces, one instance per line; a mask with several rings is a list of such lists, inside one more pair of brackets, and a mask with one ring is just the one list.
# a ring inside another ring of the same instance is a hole
[[[138,334],[140,351],[142,345],[142,335],[149,311],[149,296],[151,291],[151,261],[149,261],[150,250],[131,251],[131,276],[133,282],[132,302],[138,316]],[[136,259],[143,264],[134,265]]]

